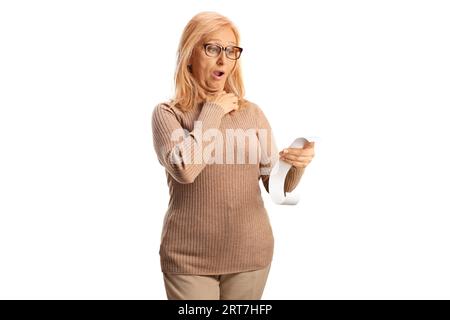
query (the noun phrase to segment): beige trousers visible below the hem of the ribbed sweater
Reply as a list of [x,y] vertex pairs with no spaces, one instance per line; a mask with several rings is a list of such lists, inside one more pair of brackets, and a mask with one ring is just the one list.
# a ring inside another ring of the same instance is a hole
[[163,273],[168,300],[260,300],[270,264],[260,270],[222,275]]

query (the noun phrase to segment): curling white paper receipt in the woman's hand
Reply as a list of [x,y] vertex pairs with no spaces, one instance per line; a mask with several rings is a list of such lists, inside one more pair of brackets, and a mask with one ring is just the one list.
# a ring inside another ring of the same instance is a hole
[[[289,148],[303,148],[306,142],[315,142],[317,140],[316,137],[308,137],[308,140],[297,138],[291,143]],[[284,181],[291,167],[291,164],[278,159],[270,171],[269,193],[272,201],[276,204],[296,205],[300,200],[300,195],[295,193],[295,189],[292,192],[286,192],[286,194],[284,192]]]

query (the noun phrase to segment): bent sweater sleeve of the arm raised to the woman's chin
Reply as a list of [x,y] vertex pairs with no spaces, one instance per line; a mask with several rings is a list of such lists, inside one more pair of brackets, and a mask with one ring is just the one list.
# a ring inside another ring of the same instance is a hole
[[198,116],[196,128],[183,129],[175,112],[167,105],[158,104],[152,113],[153,146],[158,160],[179,183],[192,183],[205,168],[209,159],[204,159],[203,149],[208,141],[203,133],[219,128],[223,108],[212,102],[205,102]]

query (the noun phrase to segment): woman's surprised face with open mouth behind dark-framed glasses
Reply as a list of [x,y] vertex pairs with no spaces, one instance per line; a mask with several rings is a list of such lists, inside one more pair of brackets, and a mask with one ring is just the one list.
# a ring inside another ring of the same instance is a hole
[[[203,47],[204,43],[219,44],[222,47],[237,46],[236,37],[229,27],[209,34],[206,41],[194,49],[189,62],[192,65],[194,78],[205,91],[220,92],[224,89],[225,82],[237,61],[229,59],[224,50],[217,57],[208,56]],[[221,76],[216,75],[219,71],[223,72]]]

